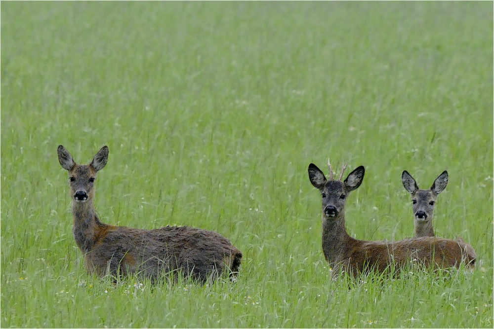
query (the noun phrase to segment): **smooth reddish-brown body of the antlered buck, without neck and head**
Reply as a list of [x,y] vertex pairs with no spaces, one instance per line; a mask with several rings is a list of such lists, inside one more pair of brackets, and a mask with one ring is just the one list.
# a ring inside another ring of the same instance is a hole
[[[396,273],[407,265],[422,265],[434,268],[475,266],[476,254],[463,241],[435,237],[410,238],[400,241],[354,240],[349,255],[334,264],[334,274],[346,270],[357,276],[371,270]],[[343,268],[342,268],[343,267]]]

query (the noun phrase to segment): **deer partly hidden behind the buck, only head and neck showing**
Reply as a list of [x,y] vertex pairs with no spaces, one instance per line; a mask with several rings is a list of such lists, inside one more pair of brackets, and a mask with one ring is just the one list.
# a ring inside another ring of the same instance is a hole
[[415,237],[436,236],[432,227],[434,207],[436,200],[448,185],[448,172],[445,170],[439,175],[430,189],[420,189],[408,171],[402,174],[402,183],[405,189],[412,195],[413,222],[415,226]]

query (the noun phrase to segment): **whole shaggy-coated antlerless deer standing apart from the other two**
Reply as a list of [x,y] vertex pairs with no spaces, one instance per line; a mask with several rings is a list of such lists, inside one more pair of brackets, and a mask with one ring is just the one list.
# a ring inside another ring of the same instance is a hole
[[89,272],[99,276],[136,273],[154,282],[161,274],[183,271],[184,276],[202,283],[225,271],[237,275],[242,253],[216,232],[187,226],[146,230],[102,223],[93,204],[94,182],[108,160],[107,146],[90,164],[78,165],[60,145],[58,160],[69,171],[74,237]]

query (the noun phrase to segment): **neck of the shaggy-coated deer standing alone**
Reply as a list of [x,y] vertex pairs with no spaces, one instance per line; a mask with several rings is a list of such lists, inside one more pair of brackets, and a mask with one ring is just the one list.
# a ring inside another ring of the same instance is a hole
[[72,214],[74,216],[72,230],[77,246],[82,253],[88,253],[94,246],[98,228],[104,224],[100,222],[96,214],[92,199],[88,199],[86,202],[73,201]]

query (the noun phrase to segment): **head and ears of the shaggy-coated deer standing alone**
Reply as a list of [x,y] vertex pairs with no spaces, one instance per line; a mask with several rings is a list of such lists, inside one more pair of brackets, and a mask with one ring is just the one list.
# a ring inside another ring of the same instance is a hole
[[103,169],[108,160],[108,147],[103,146],[88,165],[78,165],[72,159],[69,151],[58,146],[58,161],[69,171],[71,196],[76,202],[86,202],[94,197],[94,181],[97,172]]

